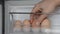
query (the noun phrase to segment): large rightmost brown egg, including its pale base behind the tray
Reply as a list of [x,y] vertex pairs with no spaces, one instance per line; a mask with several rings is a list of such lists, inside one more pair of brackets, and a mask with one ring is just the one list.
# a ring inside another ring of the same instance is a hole
[[45,19],[41,24],[41,31],[49,33],[50,32],[50,21]]

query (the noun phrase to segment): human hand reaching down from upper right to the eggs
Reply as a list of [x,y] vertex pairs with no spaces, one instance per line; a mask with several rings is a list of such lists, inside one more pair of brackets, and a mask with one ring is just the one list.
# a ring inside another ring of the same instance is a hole
[[38,17],[38,19],[35,19],[35,15],[31,15],[31,23],[32,21],[35,20],[36,23],[40,24],[44,18],[48,16],[51,12],[53,12],[58,6],[58,1],[57,0],[43,0],[42,2],[39,2],[35,5],[35,7],[32,10],[32,13],[36,13],[38,11],[41,11],[43,14]]

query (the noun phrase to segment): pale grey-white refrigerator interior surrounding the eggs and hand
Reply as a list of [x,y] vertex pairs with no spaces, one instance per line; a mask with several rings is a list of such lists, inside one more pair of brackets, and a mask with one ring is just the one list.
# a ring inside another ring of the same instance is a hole
[[[5,2],[5,34],[45,34],[45,33],[23,33],[23,32],[13,32],[14,20],[30,19],[30,14],[9,14],[10,12],[31,12],[34,5],[40,1],[6,1]],[[50,33],[46,34],[59,34],[60,33],[60,7],[58,7],[54,14],[50,14],[48,19],[51,21]],[[13,16],[13,17],[12,17]],[[17,17],[18,16],[18,17]]]

